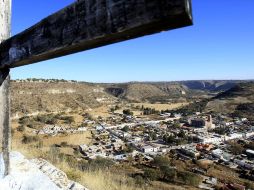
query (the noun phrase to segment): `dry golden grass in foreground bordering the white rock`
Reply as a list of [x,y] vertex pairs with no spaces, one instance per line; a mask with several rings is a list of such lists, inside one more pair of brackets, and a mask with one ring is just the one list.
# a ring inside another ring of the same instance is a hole
[[[27,158],[50,158],[48,155],[48,148],[35,148],[33,145],[21,144],[19,139],[12,142],[12,148],[14,151],[19,151],[24,154]],[[48,160],[51,162],[50,160]],[[132,178],[125,175],[114,174],[109,171],[85,171],[82,172],[77,169],[73,169],[65,161],[60,163],[54,163],[54,165],[64,171],[67,176],[89,190],[141,190],[135,185]]]

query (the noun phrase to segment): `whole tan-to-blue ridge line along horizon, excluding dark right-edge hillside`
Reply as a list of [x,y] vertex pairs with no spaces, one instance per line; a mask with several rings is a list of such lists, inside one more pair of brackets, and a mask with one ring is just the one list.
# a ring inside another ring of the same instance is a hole
[[214,96],[230,89],[237,82],[239,81],[97,84],[64,80],[17,80],[11,83],[12,116],[36,112],[87,111],[122,101],[182,103]]

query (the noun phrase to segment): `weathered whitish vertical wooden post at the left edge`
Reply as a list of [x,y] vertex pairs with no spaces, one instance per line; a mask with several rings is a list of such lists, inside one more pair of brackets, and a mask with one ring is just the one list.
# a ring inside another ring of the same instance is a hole
[[[11,33],[11,0],[0,1],[0,43],[10,37]],[[0,70],[0,144],[4,160],[4,175],[9,173],[10,153],[10,75],[9,69]]]

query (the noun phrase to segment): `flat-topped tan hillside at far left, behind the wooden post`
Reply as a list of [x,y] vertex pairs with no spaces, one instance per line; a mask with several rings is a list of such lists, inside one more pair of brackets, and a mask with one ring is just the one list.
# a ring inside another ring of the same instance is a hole
[[95,84],[71,82],[12,82],[12,113],[89,110],[116,98]]

